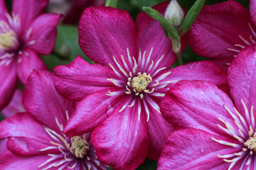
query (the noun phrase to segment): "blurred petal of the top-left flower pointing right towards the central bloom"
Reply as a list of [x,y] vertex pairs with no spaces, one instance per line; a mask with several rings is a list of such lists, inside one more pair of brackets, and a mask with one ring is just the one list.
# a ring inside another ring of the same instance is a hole
[[48,55],[53,50],[57,35],[57,25],[61,15],[46,13],[33,21],[31,24],[31,37],[28,42],[33,42],[31,49],[41,55]]

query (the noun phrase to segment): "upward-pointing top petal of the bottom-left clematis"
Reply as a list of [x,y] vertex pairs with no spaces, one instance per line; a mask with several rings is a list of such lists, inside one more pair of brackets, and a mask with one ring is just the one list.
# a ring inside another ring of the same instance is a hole
[[53,86],[53,76],[50,72],[34,71],[28,77],[28,83],[23,92],[23,106],[33,118],[46,127],[60,131],[55,119],[60,124],[67,121],[63,113],[71,113],[73,103],[66,101]]

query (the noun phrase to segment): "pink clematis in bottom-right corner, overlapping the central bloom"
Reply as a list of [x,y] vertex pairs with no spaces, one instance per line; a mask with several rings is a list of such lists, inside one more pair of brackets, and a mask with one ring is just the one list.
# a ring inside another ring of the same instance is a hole
[[256,169],[256,46],[228,68],[233,101],[214,84],[180,81],[161,101],[178,130],[164,146],[158,169]]

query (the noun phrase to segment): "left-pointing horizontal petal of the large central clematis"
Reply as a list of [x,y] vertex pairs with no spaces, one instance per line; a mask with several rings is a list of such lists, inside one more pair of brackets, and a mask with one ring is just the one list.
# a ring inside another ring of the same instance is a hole
[[96,91],[110,89],[113,84],[107,79],[118,78],[111,69],[100,64],[89,64],[80,55],[70,64],[55,67],[53,71],[55,88],[62,96],[73,101],[80,101]]

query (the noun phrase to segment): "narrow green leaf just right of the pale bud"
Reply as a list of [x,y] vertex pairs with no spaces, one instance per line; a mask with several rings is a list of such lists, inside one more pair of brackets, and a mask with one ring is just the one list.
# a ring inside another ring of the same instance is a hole
[[189,28],[191,28],[193,22],[196,20],[196,17],[203,8],[205,1],[206,0],[197,0],[195,4],[193,4],[193,6],[188,11],[188,14],[186,15],[183,23],[181,23],[181,26],[178,28],[178,35],[181,36],[188,32]]

